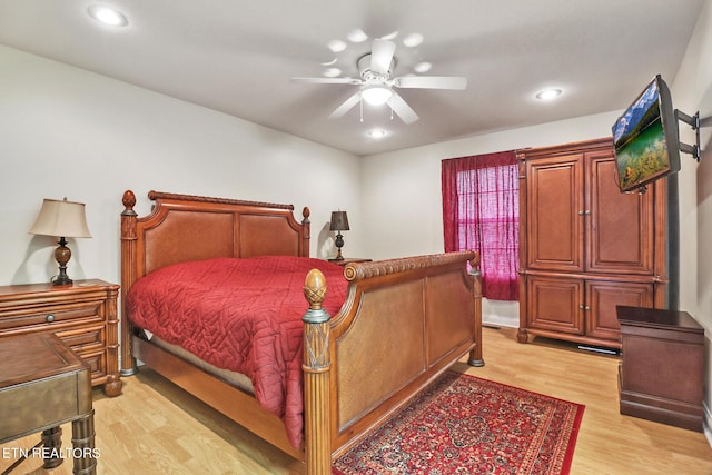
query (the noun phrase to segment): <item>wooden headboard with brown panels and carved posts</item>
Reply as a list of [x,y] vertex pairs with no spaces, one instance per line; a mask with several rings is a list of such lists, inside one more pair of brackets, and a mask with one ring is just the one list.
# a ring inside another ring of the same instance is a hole
[[[309,208],[304,208],[298,222],[291,205],[161,191],[150,191],[148,198],[155,201],[151,212],[138,217],[136,195],[123,192],[122,303],[137,279],[171,264],[212,257],[309,256]],[[128,362],[128,324],[122,325],[121,336],[121,356]]]

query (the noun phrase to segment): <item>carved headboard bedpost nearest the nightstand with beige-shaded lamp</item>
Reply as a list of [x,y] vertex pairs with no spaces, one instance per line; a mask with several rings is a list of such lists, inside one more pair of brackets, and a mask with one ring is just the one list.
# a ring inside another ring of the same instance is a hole
[[126,318],[126,295],[136,281],[136,195],[123,192],[121,212],[121,370],[122,376],[136,374],[136,359],[131,352],[131,325]]

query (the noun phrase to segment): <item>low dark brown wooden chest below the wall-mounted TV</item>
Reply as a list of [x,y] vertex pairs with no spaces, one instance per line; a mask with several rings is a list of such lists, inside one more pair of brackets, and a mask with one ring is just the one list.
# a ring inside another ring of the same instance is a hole
[[702,432],[704,329],[686,311],[616,310],[621,414]]

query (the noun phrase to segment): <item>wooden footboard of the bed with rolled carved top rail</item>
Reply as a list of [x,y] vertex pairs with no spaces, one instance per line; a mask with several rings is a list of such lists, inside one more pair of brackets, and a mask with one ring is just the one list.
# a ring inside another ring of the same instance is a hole
[[[469,263],[471,273],[466,270]],[[469,353],[481,366],[478,256],[452,253],[350,264],[347,300],[330,320],[324,278],[307,277],[307,473],[330,461]]]

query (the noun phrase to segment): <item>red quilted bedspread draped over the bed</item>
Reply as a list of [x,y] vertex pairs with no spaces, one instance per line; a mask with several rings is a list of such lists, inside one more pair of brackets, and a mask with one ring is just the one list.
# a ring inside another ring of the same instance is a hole
[[220,368],[247,375],[298,447],[304,429],[303,323],[307,273],[326,277],[324,308],[346,298],[344,269],[306,257],[217,258],[164,267],[127,296],[131,323]]

